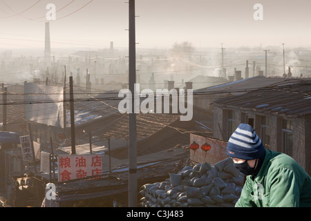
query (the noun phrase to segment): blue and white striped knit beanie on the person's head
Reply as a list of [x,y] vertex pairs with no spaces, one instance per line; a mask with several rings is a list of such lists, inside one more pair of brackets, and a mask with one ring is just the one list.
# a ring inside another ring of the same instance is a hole
[[265,153],[265,147],[252,126],[240,124],[227,144],[227,155],[242,160],[254,160]]

